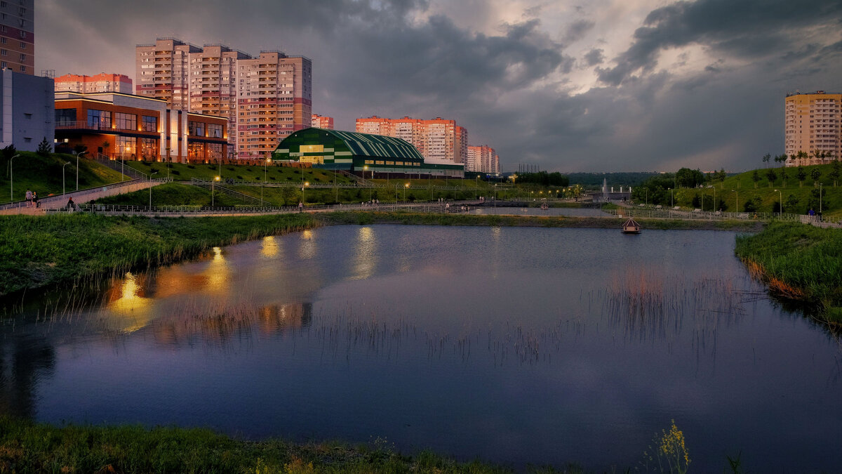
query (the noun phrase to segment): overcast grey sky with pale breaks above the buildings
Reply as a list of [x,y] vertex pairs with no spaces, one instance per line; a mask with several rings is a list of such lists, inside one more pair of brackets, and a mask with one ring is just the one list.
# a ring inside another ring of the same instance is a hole
[[134,79],[159,36],[309,57],[337,129],[455,119],[503,170],[747,170],[787,92],[842,92],[839,0],[35,2],[36,70]]

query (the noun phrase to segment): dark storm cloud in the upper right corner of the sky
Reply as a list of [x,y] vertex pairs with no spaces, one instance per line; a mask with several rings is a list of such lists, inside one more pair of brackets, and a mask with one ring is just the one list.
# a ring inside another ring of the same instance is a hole
[[647,73],[660,51],[699,44],[714,53],[754,59],[797,43],[802,28],[839,23],[842,3],[834,0],[700,0],[678,2],[647,15],[632,46],[616,67],[600,68],[600,80],[618,85],[634,73]]

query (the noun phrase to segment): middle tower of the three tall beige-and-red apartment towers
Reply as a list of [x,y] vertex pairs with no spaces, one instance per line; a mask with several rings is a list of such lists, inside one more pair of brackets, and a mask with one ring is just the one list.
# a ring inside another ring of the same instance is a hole
[[237,61],[248,54],[223,45],[189,53],[189,110],[228,119],[228,150],[237,153]]

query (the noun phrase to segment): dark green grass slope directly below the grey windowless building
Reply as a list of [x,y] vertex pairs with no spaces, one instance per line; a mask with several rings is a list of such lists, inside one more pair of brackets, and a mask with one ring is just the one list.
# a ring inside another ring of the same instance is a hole
[[[76,157],[69,154],[40,156],[32,152],[17,152],[13,159],[13,182],[8,173],[8,159],[0,158],[0,204],[9,202],[10,186],[14,186],[14,201],[22,201],[26,190],[37,191],[39,197],[61,194],[61,168],[64,166],[65,189],[76,190]],[[79,189],[88,189],[118,182],[123,175],[92,159],[79,159]]]

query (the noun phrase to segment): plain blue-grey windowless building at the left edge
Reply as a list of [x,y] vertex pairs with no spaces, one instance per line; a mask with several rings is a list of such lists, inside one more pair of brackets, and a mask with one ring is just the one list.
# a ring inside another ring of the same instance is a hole
[[53,80],[0,70],[0,148],[35,151],[46,138],[53,143]]

